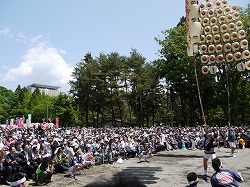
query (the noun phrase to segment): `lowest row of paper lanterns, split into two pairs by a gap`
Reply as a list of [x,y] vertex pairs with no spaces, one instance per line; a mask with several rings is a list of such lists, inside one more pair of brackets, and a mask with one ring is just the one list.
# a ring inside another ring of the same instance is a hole
[[[239,62],[236,65],[236,68],[237,68],[238,71],[244,71],[245,69],[250,70],[250,60],[246,61],[245,63],[244,62]],[[205,66],[201,67],[201,71],[202,71],[203,74],[208,74],[209,72],[211,74],[215,74],[218,71],[218,68],[215,65],[211,65],[211,66],[205,65]]]

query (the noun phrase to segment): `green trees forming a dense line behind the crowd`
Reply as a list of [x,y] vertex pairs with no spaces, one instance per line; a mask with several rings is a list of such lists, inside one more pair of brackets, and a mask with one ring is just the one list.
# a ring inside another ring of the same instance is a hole
[[[250,41],[249,6],[241,19]],[[67,94],[49,97],[20,85],[15,92],[0,87],[0,122],[32,114],[33,122],[59,117],[61,126],[250,124],[250,71],[239,72],[232,63],[218,67],[216,74],[202,74],[199,56],[187,56],[184,17],[155,41],[160,50],[153,62],[136,49],[129,56],[85,54],[72,72]]]

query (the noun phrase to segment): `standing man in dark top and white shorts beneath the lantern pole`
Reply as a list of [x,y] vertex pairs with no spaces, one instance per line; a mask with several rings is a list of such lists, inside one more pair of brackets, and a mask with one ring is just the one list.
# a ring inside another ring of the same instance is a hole
[[204,140],[204,155],[203,155],[203,168],[204,171],[201,175],[207,176],[208,159],[211,160],[216,158],[214,146],[217,144],[215,141],[216,133],[212,130],[208,131],[208,125],[203,128]]

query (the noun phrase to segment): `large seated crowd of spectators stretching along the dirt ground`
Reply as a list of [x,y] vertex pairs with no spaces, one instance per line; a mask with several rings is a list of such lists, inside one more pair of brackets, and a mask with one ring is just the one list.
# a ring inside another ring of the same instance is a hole
[[[54,173],[69,172],[74,180],[82,169],[138,157],[138,162],[159,151],[204,149],[206,162],[213,155],[206,145],[244,148],[250,127],[104,127],[104,128],[0,128],[0,179],[9,183],[24,173],[38,185],[51,182]],[[205,132],[206,131],[206,132]],[[207,134],[204,136],[204,133]],[[209,141],[207,141],[209,140]],[[209,152],[210,151],[210,152]],[[211,152],[212,153],[212,152]]]

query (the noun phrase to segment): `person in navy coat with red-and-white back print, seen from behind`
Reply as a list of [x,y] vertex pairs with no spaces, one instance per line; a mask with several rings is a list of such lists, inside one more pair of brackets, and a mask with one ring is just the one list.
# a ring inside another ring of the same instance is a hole
[[237,182],[244,181],[238,172],[222,168],[222,162],[219,158],[212,160],[212,167],[215,170],[211,176],[212,187],[239,187]]

